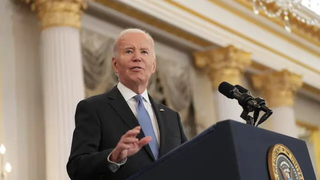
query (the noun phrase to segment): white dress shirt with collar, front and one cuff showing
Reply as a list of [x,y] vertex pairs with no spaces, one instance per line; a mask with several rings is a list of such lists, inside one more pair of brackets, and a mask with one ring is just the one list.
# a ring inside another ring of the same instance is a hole
[[[119,82],[117,84],[117,88],[119,89],[119,91],[122,94],[122,96],[123,96],[124,100],[126,101],[126,103],[129,105],[129,107],[132,110],[133,114],[137,118],[137,109],[136,109],[137,108],[137,103],[136,103],[136,100],[134,99],[134,96],[137,95],[137,94],[135,92],[133,92],[131,89],[129,89],[126,86],[124,86],[121,82]],[[157,120],[156,120],[155,113],[153,111],[151,102],[149,100],[149,96],[148,96],[147,90],[145,89],[142,92],[141,95],[143,97],[142,98],[143,105],[144,105],[146,111],[149,113],[149,116],[151,118],[151,123],[152,123],[153,130],[154,130],[154,133],[155,133],[156,141],[160,145],[159,127],[158,127],[158,123],[157,123]],[[119,163],[112,162],[109,159],[111,153],[108,155],[107,160],[111,163],[109,165],[109,169],[112,172],[115,172],[120,167],[120,165],[123,165],[126,162],[127,158],[125,158],[122,162],[119,162]]]

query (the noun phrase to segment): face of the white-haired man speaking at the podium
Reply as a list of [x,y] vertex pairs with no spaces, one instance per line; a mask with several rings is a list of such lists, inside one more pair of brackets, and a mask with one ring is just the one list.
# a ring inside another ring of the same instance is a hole
[[155,71],[151,40],[138,32],[122,35],[112,64],[122,83],[146,84]]

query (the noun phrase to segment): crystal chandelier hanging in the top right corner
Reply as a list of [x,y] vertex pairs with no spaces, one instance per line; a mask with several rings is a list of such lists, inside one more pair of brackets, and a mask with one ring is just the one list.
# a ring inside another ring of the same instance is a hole
[[[317,1],[317,3],[314,3]],[[318,20],[314,17],[301,13],[301,6],[308,8],[313,13],[319,13],[309,8],[311,4],[319,5],[319,0],[252,0],[253,13],[258,14],[261,8],[268,17],[281,17],[284,20],[284,29],[291,32],[290,18],[306,25],[318,25]],[[302,3],[303,2],[303,3]],[[276,7],[276,8],[274,8]],[[319,5],[320,7],[320,5]]]

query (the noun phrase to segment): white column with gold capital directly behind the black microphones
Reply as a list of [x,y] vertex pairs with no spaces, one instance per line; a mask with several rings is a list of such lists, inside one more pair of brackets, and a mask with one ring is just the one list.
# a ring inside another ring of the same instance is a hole
[[251,63],[251,54],[232,45],[194,53],[195,65],[203,69],[211,80],[218,121],[232,119],[245,122],[240,114],[242,107],[218,91],[221,82],[241,85],[243,71]]

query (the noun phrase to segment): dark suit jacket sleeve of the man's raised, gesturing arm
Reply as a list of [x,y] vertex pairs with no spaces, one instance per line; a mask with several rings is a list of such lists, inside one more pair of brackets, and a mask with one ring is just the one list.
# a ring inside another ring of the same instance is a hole
[[101,124],[98,114],[88,100],[81,100],[75,110],[75,129],[71,152],[66,165],[71,179],[104,178],[112,173],[107,161],[112,149],[98,151]]

